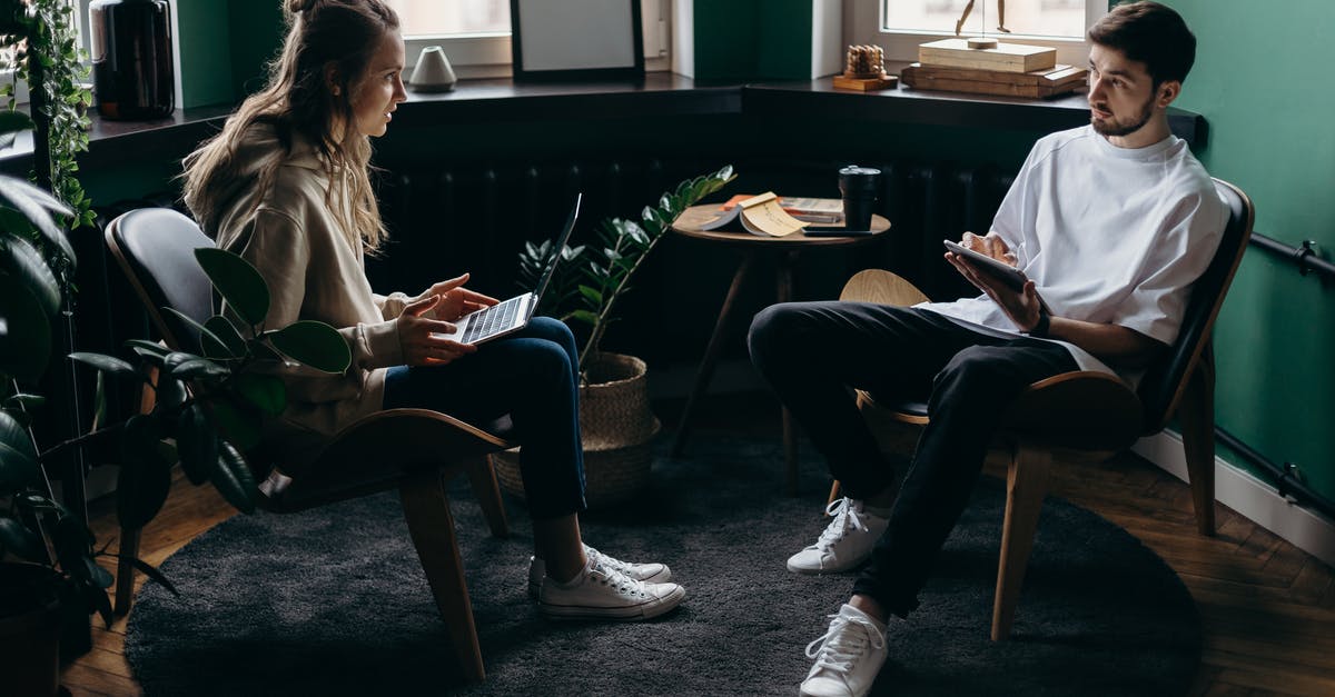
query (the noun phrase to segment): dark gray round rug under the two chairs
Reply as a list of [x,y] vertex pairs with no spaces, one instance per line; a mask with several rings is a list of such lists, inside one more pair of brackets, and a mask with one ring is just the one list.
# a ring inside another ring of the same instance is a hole
[[[804,449],[808,494],[786,498],[778,443],[701,434],[689,451],[659,457],[634,505],[583,517],[589,543],[663,561],[688,588],[681,609],[647,624],[543,621],[523,590],[522,506],[511,501],[511,537],[493,539],[457,482],[483,685],[461,686],[450,668],[395,494],[200,535],[163,566],[180,597],[140,592],[125,654],[150,696],[796,694],[804,648],[852,588],[784,567],[825,522],[820,458]],[[892,621],[876,693],[1183,694],[1200,657],[1187,590],[1132,535],[1064,501],[1044,505],[1012,640],[988,640],[1003,507],[985,479],[921,608]]]

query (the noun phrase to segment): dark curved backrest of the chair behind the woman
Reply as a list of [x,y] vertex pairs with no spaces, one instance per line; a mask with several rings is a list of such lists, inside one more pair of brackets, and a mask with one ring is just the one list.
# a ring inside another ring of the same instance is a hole
[[171,208],[139,208],[107,226],[107,247],[148,307],[167,344],[199,354],[199,330],[163,307],[203,324],[214,314],[214,287],[195,260],[212,247],[194,220]]

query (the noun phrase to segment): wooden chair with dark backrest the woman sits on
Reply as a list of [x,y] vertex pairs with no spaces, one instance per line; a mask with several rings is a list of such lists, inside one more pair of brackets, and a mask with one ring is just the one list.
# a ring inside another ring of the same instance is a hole
[[[105,236],[112,256],[167,346],[198,354],[199,331],[160,308],[171,307],[199,323],[212,315],[212,286],[194,256],[195,248],[212,247],[212,240],[190,218],[170,208],[129,211],[107,226]],[[308,466],[282,473],[274,469],[267,478],[263,470],[258,471],[263,478],[259,507],[292,513],[396,487],[459,666],[467,678],[481,681],[486,673],[459,562],[447,482],[457,474],[467,474],[491,534],[506,537],[505,509],[490,454],[514,445],[506,439],[507,430],[509,419],[483,430],[426,409],[379,411],[343,429]],[[132,602],[134,567],[125,558],[138,553],[139,533],[121,529],[120,549],[125,557],[116,574],[120,614]]]

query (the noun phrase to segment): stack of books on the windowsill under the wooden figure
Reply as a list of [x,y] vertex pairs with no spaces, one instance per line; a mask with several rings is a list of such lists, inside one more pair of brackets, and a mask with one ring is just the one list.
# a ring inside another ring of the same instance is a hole
[[965,39],[918,47],[918,61],[900,80],[918,89],[949,89],[1017,97],[1048,97],[1085,84],[1085,68],[1057,64],[1053,48],[999,43],[971,48]]

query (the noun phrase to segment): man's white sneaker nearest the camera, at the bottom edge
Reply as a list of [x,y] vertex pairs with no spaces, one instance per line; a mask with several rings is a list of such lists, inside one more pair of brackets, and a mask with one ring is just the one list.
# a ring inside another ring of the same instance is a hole
[[885,664],[885,626],[846,604],[830,618],[825,636],[806,645],[816,665],[802,681],[802,697],[862,697]]

